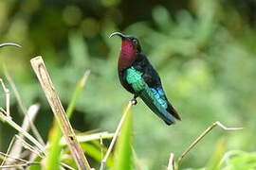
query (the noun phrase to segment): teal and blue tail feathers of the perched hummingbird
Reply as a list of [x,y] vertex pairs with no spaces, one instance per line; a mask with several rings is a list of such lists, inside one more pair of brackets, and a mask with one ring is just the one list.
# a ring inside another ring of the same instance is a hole
[[140,91],[138,96],[144,103],[155,112],[167,125],[175,123],[175,118],[179,119],[178,114],[168,101],[164,101],[158,93],[154,93],[152,89],[146,87]]

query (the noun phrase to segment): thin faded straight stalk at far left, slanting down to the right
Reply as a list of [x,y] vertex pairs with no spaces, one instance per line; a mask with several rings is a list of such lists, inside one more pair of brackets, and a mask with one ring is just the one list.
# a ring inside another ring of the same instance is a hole
[[[9,72],[7,70],[7,68],[4,66],[4,72],[5,72],[5,76],[7,77],[8,81],[9,81],[9,85],[17,99],[17,102],[18,102],[18,106],[20,107],[20,109],[22,110],[23,114],[25,116],[29,116],[28,114],[28,110],[26,108],[26,106],[24,105],[22,99],[21,99],[21,95],[20,93],[18,92],[17,88],[16,88],[16,85],[13,81],[13,79],[11,78],[11,76],[9,75]],[[27,115],[28,114],[28,115]],[[38,132],[37,128],[35,127],[33,121],[30,121],[30,119],[27,119],[28,120],[28,123],[30,124],[30,127],[32,129],[32,132],[33,134],[35,135],[36,139],[41,143],[43,144],[44,146],[46,146],[42,136],[40,135],[40,133]]]

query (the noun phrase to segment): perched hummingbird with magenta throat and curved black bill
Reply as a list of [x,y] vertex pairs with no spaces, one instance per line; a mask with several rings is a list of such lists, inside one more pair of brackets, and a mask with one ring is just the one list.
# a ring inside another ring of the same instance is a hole
[[121,38],[119,81],[124,89],[134,94],[134,104],[137,104],[137,97],[140,97],[167,125],[174,124],[176,119],[181,120],[166,97],[158,73],[142,53],[137,38],[120,32],[112,33],[110,38],[113,36]]

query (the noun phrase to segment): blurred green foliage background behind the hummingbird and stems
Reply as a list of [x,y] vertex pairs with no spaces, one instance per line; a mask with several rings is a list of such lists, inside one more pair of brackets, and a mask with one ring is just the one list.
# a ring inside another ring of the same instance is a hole
[[[45,141],[53,114],[30,68],[29,59],[38,55],[45,59],[65,107],[84,71],[91,70],[72,126],[114,131],[132,95],[119,84],[120,41],[108,36],[114,31],[137,36],[182,117],[168,127],[138,100],[134,144],[146,169],[165,169],[171,151],[181,154],[215,121],[245,127],[236,132],[214,129],[182,164],[203,167],[220,138],[226,151],[255,151],[255,19],[255,0],[1,0],[0,42],[23,47],[1,48],[0,63],[8,68],[25,105],[41,104],[36,126]],[[6,81],[2,66],[0,77]],[[5,105],[2,89],[0,105]],[[18,123],[20,112],[11,93],[11,115]],[[0,124],[0,150],[6,151],[13,134]]]

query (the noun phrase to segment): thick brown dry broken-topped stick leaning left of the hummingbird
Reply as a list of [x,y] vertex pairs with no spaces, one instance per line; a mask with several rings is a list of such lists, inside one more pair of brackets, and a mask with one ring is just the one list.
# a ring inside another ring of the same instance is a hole
[[64,134],[66,144],[68,145],[71,155],[77,163],[80,170],[90,170],[91,167],[86,160],[81,145],[78,143],[73,128],[65,114],[64,107],[58,94],[55,92],[50,76],[46,71],[46,66],[42,57],[36,57],[30,60],[32,68],[38,77],[41,86],[46,94],[48,103],[57,119],[59,126]]

